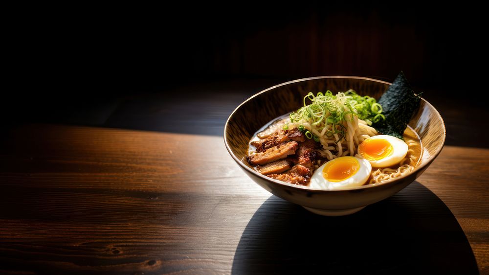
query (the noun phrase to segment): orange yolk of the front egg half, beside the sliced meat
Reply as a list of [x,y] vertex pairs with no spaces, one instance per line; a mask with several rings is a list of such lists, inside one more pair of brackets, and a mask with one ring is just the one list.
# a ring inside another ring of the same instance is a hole
[[330,161],[323,168],[323,178],[330,182],[341,182],[355,175],[360,163],[354,157],[343,157]]

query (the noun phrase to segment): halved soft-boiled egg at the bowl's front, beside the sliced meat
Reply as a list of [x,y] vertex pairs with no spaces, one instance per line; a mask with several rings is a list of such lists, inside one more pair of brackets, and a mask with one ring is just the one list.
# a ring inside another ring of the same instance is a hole
[[367,182],[371,170],[368,160],[339,157],[319,166],[312,174],[309,186],[326,190],[360,186]]

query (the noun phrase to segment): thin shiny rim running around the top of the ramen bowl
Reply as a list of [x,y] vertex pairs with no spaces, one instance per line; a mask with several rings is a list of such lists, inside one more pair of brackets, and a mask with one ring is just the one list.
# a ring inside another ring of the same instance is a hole
[[[344,192],[344,191],[350,191],[350,190],[358,190],[358,189],[369,189],[369,188],[374,188],[376,186],[384,186],[386,184],[395,184],[397,182],[400,182],[401,179],[404,179],[410,175],[413,175],[415,171],[417,170],[421,170],[423,169],[424,167],[426,167],[427,165],[429,165],[431,162],[433,162],[433,160],[436,159],[436,157],[438,157],[438,155],[440,154],[440,152],[442,151],[443,147],[445,146],[445,138],[446,138],[446,127],[445,127],[445,121],[443,120],[443,117],[442,115],[440,115],[440,113],[438,112],[438,110],[431,104],[429,103],[427,100],[425,100],[424,98],[421,98],[422,101],[424,101],[424,104],[427,104],[428,106],[430,106],[436,113],[436,115],[438,115],[438,117],[441,119],[442,121],[442,125],[443,125],[443,140],[442,140],[442,146],[440,146],[437,151],[435,152],[435,154],[431,155],[426,161],[424,161],[423,163],[421,163],[420,165],[416,166],[414,168],[413,171],[411,171],[411,173],[408,173],[406,175],[403,175],[403,176],[400,176],[400,177],[397,177],[396,179],[392,180],[392,181],[388,181],[388,182],[385,182],[385,183],[377,183],[377,184],[364,184],[364,185],[361,185],[361,186],[356,186],[356,187],[350,187],[350,188],[342,188],[342,189],[333,189],[333,190],[326,190],[326,189],[314,189],[314,188],[311,188],[310,186],[305,186],[305,185],[300,185],[300,184],[293,184],[293,183],[286,183],[286,182],[282,182],[282,181],[279,181],[279,180],[275,180],[275,179],[272,179],[270,177],[267,177],[265,175],[262,175],[260,173],[258,173],[256,170],[254,169],[251,169],[250,167],[244,165],[244,163],[242,162],[242,160],[239,160],[235,155],[234,153],[232,152],[231,148],[229,147],[229,144],[228,144],[228,141],[227,141],[227,138],[226,138],[226,130],[227,130],[227,126],[229,124],[229,120],[231,119],[231,117],[234,115],[234,113],[236,113],[238,111],[238,109],[241,108],[241,106],[243,106],[246,102],[250,101],[252,98],[262,94],[262,93],[265,93],[269,90],[272,90],[272,89],[275,89],[275,88],[278,88],[278,87],[281,87],[281,86],[285,86],[285,85],[289,85],[289,84],[292,84],[292,83],[297,83],[297,82],[303,82],[303,81],[309,81],[309,80],[315,80],[315,79],[324,79],[324,78],[346,78],[346,79],[362,79],[362,80],[368,80],[368,81],[373,81],[373,82],[378,82],[378,83],[382,83],[382,84],[387,84],[387,85],[392,85],[391,82],[387,82],[387,81],[383,81],[383,80],[378,80],[378,79],[375,79],[375,78],[370,78],[370,77],[363,77],[363,76],[349,76],[349,75],[323,75],[323,76],[313,76],[313,77],[306,77],[306,78],[300,78],[300,79],[295,79],[295,80],[291,80],[291,81],[287,81],[287,82],[283,82],[283,83],[280,83],[280,84],[277,84],[277,85],[274,85],[272,87],[269,87],[265,90],[262,90],[261,92],[257,92],[255,94],[253,94],[252,96],[248,97],[246,100],[244,100],[240,105],[238,105],[238,107],[236,107],[234,109],[234,111],[228,116],[227,120],[226,120],[226,123],[224,124],[224,144],[226,146],[226,149],[227,151],[229,152],[229,154],[231,155],[231,157],[238,163],[238,165],[240,165],[240,167],[242,169],[245,169],[246,171],[250,172],[251,174],[257,176],[258,178],[261,178],[265,181],[269,181],[269,182],[272,182],[272,183],[278,183],[278,184],[281,184],[281,185],[285,185],[285,186],[289,186],[289,187],[293,187],[293,188],[299,188],[299,189],[304,189],[306,191],[311,191],[311,192]],[[418,134],[418,133],[416,133]]]

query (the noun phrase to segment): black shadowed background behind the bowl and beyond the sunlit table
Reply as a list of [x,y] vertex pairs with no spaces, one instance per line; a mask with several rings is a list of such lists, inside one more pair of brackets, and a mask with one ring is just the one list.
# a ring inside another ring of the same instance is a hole
[[[467,133],[464,119],[487,115],[477,100],[485,93],[482,8],[395,4],[31,7],[7,28],[13,85],[3,123],[221,135],[234,107],[275,84],[319,75],[392,81],[402,70],[442,115],[466,109],[448,134]],[[226,107],[209,114],[210,105]]]

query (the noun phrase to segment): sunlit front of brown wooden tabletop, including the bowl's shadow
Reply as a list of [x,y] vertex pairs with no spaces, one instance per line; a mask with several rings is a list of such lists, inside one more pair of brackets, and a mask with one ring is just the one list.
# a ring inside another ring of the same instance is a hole
[[272,196],[222,137],[26,125],[0,145],[0,274],[489,274],[489,150],[445,146],[345,217]]

